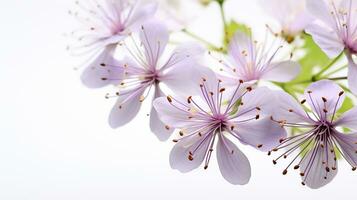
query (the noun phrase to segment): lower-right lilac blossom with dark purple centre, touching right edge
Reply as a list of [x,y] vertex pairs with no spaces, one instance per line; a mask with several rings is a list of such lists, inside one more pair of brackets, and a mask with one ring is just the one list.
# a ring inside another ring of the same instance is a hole
[[[338,154],[356,170],[357,166],[357,108],[337,119],[345,93],[334,82],[322,80],[312,83],[305,91],[305,99],[311,112],[307,112],[290,95],[276,92],[276,108],[272,120],[282,127],[299,129],[301,134],[282,139],[275,151],[283,151],[276,159],[291,157],[283,174],[289,168],[300,169],[302,184],[317,189],[332,181],[337,174]],[[351,130],[348,134],[342,128]],[[294,155],[294,152],[298,152]],[[270,153],[269,153],[270,154]]]

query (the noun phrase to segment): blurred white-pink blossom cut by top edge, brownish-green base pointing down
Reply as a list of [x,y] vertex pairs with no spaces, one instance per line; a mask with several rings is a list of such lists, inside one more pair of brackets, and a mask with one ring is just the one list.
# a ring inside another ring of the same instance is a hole
[[260,0],[259,3],[276,20],[281,36],[289,43],[311,23],[305,0]]

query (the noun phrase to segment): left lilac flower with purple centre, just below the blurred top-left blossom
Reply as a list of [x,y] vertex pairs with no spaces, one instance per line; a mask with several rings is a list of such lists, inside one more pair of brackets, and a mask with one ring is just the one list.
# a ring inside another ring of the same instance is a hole
[[[157,21],[150,21],[139,32],[140,44],[130,47],[126,42],[120,44],[127,48],[130,58],[122,61],[101,63],[87,68],[82,81],[90,87],[103,87],[113,84],[119,87],[116,94],[108,98],[118,98],[110,117],[109,124],[118,128],[130,122],[139,112],[141,103],[154,91],[154,99],[164,96],[161,86],[182,92],[192,91],[192,86],[206,70],[195,63],[203,49],[195,44],[177,47],[167,59],[162,54],[168,43],[167,27]],[[150,113],[150,128],[160,140],[170,137],[173,129],[162,123],[155,109]]]

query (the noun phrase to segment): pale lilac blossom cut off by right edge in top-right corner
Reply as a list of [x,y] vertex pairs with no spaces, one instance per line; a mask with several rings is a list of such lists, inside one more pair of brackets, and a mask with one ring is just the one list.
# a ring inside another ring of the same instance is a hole
[[357,2],[308,0],[307,7],[317,20],[306,31],[329,57],[346,53],[349,87],[357,93],[357,64],[352,58],[357,54]]

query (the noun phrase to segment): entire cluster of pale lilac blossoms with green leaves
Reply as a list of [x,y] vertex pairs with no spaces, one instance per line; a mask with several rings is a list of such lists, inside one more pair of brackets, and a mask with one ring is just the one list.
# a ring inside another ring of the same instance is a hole
[[[68,49],[88,56],[83,84],[114,88],[106,95],[117,100],[112,128],[132,121],[146,102],[151,132],[161,141],[177,133],[173,169],[208,169],[216,152],[222,176],[235,185],[251,177],[238,142],[269,156],[281,152],[273,163],[289,160],[283,175],[299,169],[302,185],[313,189],[335,177],[339,159],[357,169],[357,108],[348,103],[357,94],[357,0],[261,1],[276,22],[262,40],[246,25],[227,23],[225,0],[174,2],[76,1],[70,11],[82,27]],[[213,3],[228,41],[222,47],[189,32],[172,7]],[[176,32],[197,41],[171,44]],[[294,56],[298,51],[305,53]],[[208,64],[206,54],[219,62]],[[347,64],[334,69],[343,56]],[[331,77],[340,72],[347,75]]]

